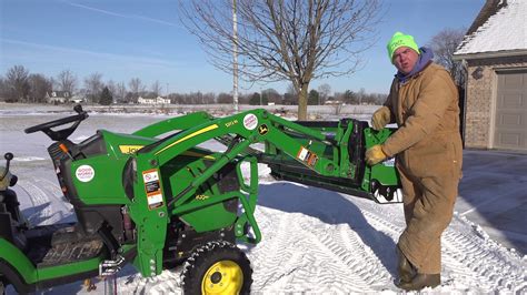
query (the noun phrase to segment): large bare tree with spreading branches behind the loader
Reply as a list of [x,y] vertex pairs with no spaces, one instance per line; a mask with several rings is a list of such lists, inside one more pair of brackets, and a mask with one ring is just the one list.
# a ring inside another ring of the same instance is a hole
[[[378,0],[180,0],[180,19],[196,34],[212,64],[249,82],[291,81],[298,118],[307,118],[314,79],[354,73],[379,21]],[[236,3],[237,34],[232,34]],[[232,45],[236,44],[236,45]]]

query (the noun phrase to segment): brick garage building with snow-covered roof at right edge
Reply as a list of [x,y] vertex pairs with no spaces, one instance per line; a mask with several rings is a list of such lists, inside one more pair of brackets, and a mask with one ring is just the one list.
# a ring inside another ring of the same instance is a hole
[[454,53],[467,69],[465,146],[527,151],[527,1],[487,0]]

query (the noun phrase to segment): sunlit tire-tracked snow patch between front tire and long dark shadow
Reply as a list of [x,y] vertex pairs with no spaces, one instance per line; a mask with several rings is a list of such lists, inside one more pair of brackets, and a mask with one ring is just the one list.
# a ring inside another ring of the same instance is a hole
[[[260,210],[262,227],[275,231],[264,233],[261,246],[251,254],[256,266],[253,291],[341,292],[345,287],[347,292],[372,292],[382,288],[380,282],[390,279],[375,253],[348,224],[320,227],[318,218],[304,214]],[[274,223],[270,227],[265,225],[268,221]]]

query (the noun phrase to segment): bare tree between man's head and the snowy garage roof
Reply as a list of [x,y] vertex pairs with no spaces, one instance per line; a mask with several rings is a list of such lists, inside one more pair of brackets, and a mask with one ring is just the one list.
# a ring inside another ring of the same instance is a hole
[[445,29],[431,38],[429,47],[434,50],[437,63],[445,67],[458,87],[465,85],[465,68],[461,61],[454,61],[453,54],[461,43],[465,29]]

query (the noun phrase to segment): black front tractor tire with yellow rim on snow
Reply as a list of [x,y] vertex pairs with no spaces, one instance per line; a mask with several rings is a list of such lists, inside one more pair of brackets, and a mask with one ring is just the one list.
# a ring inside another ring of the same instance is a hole
[[252,268],[246,254],[225,241],[195,250],[181,273],[183,294],[249,294]]

